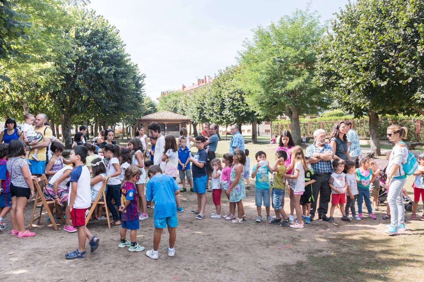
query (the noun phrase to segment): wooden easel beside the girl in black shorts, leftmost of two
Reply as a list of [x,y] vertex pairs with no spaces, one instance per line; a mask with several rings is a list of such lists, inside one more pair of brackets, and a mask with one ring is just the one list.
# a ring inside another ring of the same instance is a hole
[[[53,228],[54,228],[54,230],[59,230],[59,228],[57,227],[57,225],[56,225],[56,222],[54,221],[54,217],[53,217],[53,214],[52,214],[52,212],[50,211],[50,208],[49,208],[49,204],[55,204],[55,207],[56,207],[56,214],[61,218],[61,220],[62,220],[62,222],[63,223],[65,223],[65,219],[64,219],[64,217],[63,217],[63,215],[62,215],[62,210],[61,210],[61,206],[58,204],[58,203],[56,203],[55,201],[46,201],[46,199],[45,199],[45,197],[44,197],[44,194],[43,194],[43,191],[42,191],[42,189],[41,189],[41,187],[40,187],[40,182],[42,182],[42,181],[44,181],[44,187],[46,187],[47,186],[47,183],[49,183],[48,181],[47,181],[47,177],[46,177],[46,175],[45,174],[43,174],[42,176],[40,176],[39,178],[37,178],[37,180],[35,181],[35,180],[33,180],[33,183],[34,183],[34,188],[36,189],[36,194],[35,194],[35,201],[34,201],[34,206],[33,206],[33,208],[32,208],[32,214],[31,214],[31,222],[30,222],[30,225],[29,225],[29,229],[31,230],[32,229],[32,224],[38,219],[38,224],[40,224],[40,221],[41,221],[41,215],[42,215],[42,213],[43,213],[43,207],[46,209],[46,211],[47,211],[47,214],[49,215],[49,217],[50,217],[50,221],[51,221],[51,223],[53,224]],[[40,208],[40,214],[39,214],[39,216],[37,217],[37,218],[35,218],[34,219],[34,215],[35,215],[35,208],[36,208],[36,206],[37,205],[41,205],[41,208]]]

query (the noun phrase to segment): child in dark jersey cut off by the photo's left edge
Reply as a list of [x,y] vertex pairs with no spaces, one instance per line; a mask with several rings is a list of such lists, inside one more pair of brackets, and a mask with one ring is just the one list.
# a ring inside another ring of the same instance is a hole
[[11,210],[12,197],[10,195],[10,176],[6,167],[8,144],[0,144],[0,232],[7,228],[3,225],[3,218]]

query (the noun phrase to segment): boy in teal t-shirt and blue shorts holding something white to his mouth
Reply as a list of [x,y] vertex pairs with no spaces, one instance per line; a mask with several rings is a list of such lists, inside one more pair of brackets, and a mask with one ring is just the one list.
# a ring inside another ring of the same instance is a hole
[[272,171],[269,162],[266,161],[266,153],[259,151],[255,154],[257,164],[252,168],[252,178],[255,180],[255,205],[258,212],[256,222],[262,221],[262,199],[266,211],[266,220],[271,221],[270,211],[270,196],[269,196],[269,177],[268,173]]

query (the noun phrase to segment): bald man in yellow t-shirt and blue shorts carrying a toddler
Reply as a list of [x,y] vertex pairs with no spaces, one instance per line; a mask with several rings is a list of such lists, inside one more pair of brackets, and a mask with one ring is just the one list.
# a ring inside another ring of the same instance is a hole
[[[47,116],[45,114],[38,114],[34,120],[34,130],[37,133],[37,136],[34,140],[38,141],[38,144],[33,146],[27,146],[26,150],[31,150],[29,162],[31,163],[29,169],[32,175],[41,176],[44,173],[46,166],[46,151],[47,147],[50,145],[50,142],[53,138],[53,132],[50,128],[47,128],[44,123],[47,121]],[[32,154],[34,149],[38,150],[38,162],[33,159]]]

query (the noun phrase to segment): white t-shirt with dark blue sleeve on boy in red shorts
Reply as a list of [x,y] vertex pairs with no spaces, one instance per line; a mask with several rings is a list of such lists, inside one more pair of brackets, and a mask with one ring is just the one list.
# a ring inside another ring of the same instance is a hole
[[[71,171],[69,195],[72,192],[73,182],[77,183],[77,196],[73,208],[89,208],[91,205],[90,172],[88,167],[80,165]],[[68,197],[68,205],[71,197]]]

